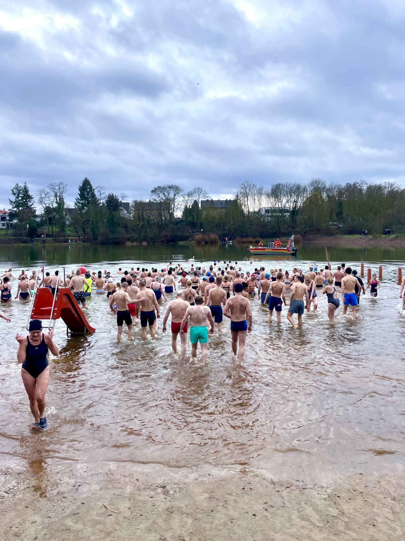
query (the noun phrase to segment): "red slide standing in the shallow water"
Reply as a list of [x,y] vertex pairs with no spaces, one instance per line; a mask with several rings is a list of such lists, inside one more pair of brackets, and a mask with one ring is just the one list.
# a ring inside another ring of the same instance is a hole
[[[48,319],[49,321],[51,318],[52,302],[53,295],[48,287],[37,289],[32,306],[31,319]],[[73,293],[67,287],[59,287],[55,305],[53,306],[52,319],[59,318],[63,319],[72,333],[86,334],[96,331],[87,322]]]

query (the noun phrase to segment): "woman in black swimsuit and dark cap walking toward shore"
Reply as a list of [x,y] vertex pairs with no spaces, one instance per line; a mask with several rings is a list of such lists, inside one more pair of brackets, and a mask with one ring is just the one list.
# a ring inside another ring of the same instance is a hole
[[47,335],[42,332],[40,319],[30,321],[29,331],[30,334],[25,338],[22,334],[16,336],[19,344],[17,360],[23,364],[21,377],[30,400],[31,413],[35,419],[32,426],[41,430],[47,426],[44,413],[45,393],[49,382],[48,350],[52,355],[57,356],[59,349],[53,342],[52,329],[49,329]]

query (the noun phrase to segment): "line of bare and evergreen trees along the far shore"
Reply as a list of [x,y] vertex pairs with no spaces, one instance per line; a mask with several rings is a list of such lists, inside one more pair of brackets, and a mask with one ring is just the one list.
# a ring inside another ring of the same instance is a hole
[[125,194],[107,194],[87,177],[80,182],[70,209],[65,207],[66,191],[66,183],[52,182],[38,190],[36,205],[27,184],[16,184],[9,199],[15,229],[34,237],[39,227],[45,235],[64,237],[70,227],[75,236],[102,243],[176,241],[201,229],[234,237],[353,234],[363,229],[381,234],[384,228],[405,232],[405,189],[393,182],[328,184],[313,179],[265,188],[246,180],[224,208],[217,208],[215,202],[201,208],[201,201],[208,200],[207,191],[196,187],[186,192],[177,184],[153,187],[149,199],[135,199],[126,208]]

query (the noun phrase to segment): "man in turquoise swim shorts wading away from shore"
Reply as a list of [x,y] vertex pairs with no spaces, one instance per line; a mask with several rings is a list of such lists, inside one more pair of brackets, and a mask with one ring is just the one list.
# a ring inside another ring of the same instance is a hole
[[184,336],[184,327],[187,319],[190,317],[190,342],[191,342],[191,357],[197,357],[197,345],[200,342],[201,359],[203,366],[207,366],[207,343],[208,331],[206,327],[207,318],[210,322],[210,334],[214,332],[214,320],[212,319],[211,310],[208,306],[203,306],[204,299],[201,295],[194,298],[195,305],[189,306],[180,325],[180,337]]

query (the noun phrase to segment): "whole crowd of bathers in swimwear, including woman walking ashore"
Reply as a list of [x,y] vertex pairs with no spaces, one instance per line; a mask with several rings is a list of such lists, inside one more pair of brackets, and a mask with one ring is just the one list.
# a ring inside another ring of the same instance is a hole
[[[253,263],[251,262],[251,265]],[[252,267],[253,271],[253,267]],[[10,304],[12,301],[12,280],[17,278],[12,269],[0,277],[0,302]],[[163,318],[162,332],[167,331],[167,322],[171,318],[171,346],[177,353],[177,341],[180,336],[180,357],[184,358],[187,349],[187,334],[190,335],[191,355],[197,357],[200,344],[203,366],[207,363],[208,333],[214,333],[217,325],[222,330],[223,316],[230,319],[232,335],[232,351],[238,364],[245,354],[246,336],[252,331],[251,301],[258,299],[268,310],[267,321],[272,322],[273,312],[276,320],[281,322],[282,305],[287,306],[286,292],[290,293],[287,320],[294,327],[302,325],[302,315],[307,310],[318,309],[318,296],[326,295],[328,301],[328,318],[334,322],[335,311],[343,301],[343,315],[350,308],[352,317],[356,318],[356,309],[360,304],[361,294],[365,295],[370,288],[370,295],[375,298],[381,283],[376,274],[365,287],[355,269],[346,267],[345,263],[333,270],[330,265],[318,270],[309,267],[307,273],[300,268],[293,268],[291,274],[281,268],[255,268],[254,272],[241,272],[238,263],[214,261],[207,269],[192,263],[186,269],[180,263],[173,266],[169,262],[165,268],[134,267],[130,271],[120,267],[113,276],[106,269],[104,272],[89,272],[80,267],[62,279],[56,271],[49,272],[43,278],[33,271],[30,275],[22,271],[18,275],[17,294],[15,299],[29,301],[36,287],[46,287],[54,295],[60,287],[71,289],[76,302],[86,308],[86,298],[92,291],[97,295],[106,294],[109,310],[117,318],[117,340],[120,340],[124,322],[128,328],[128,339],[132,339],[133,319],[140,321],[142,338],[147,339],[146,330],[150,329],[152,338],[157,330],[157,318],[160,318],[162,299],[168,301]],[[402,279],[400,298],[405,309],[405,278]],[[167,296],[166,296],[167,295]],[[297,314],[295,322],[293,315]],[[0,318],[10,322],[10,318],[0,313]],[[47,426],[45,417],[45,393],[49,382],[48,352],[59,355],[58,347],[53,342],[53,331],[45,334],[41,320],[34,319],[29,324],[29,334],[24,337],[17,334],[19,344],[17,360],[22,363],[22,379],[30,401],[30,408],[35,419],[33,426],[43,430]]]

